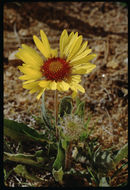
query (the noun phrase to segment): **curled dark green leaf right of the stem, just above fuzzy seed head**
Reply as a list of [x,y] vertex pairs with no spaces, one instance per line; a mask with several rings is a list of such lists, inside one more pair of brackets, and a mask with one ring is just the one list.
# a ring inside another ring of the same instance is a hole
[[65,114],[70,114],[71,111],[72,111],[72,98],[70,96],[65,96],[62,98],[59,105],[60,117],[63,117]]

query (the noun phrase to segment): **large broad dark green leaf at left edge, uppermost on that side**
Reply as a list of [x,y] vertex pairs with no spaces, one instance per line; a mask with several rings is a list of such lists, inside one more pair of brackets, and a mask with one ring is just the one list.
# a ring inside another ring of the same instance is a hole
[[35,129],[32,129],[24,123],[18,123],[13,120],[4,119],[4,135],[10,137],[16,142],[49,142],[43,138],[42,134],[39,134]]

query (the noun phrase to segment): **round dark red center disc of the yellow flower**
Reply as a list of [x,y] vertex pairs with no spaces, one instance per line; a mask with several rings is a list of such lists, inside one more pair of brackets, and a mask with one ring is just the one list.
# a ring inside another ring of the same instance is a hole
[[65,59],[57,57],[45,61],[41,71],[48,80],[60,81],[69,76],[71,67]]

